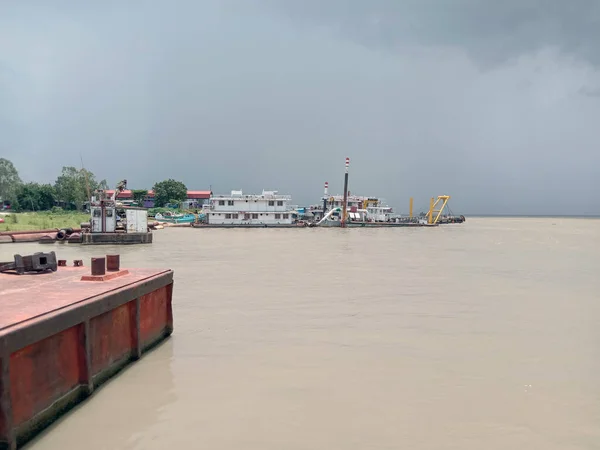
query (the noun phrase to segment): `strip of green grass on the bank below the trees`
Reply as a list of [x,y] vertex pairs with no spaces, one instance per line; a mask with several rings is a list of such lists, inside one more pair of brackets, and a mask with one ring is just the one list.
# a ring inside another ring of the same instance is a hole
[[37,231],[53,228],[80,228],[82,222],[89,222],[90,216],[81,212],[29,212],[0,215],[0,232]]

